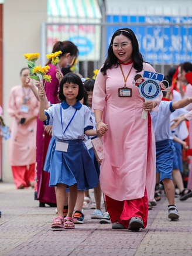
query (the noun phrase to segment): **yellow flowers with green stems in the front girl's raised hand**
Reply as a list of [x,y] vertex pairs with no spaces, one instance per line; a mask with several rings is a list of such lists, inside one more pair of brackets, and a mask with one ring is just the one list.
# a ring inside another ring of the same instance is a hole
[[35,62],[39,58],[39,53],[26,53],[24,54],[25,58],[28,59],[26,63],[28,64],[29,67],[29,76],[35,80],[40,81],[39,76],[37,74],[42,75],[42,78],[44,79],[45,82],[50,82],[51,81],[51,76],[48,76],[46,73],[50,69],[49,66],[44,66],[42,67],[41,65],[36,66]]

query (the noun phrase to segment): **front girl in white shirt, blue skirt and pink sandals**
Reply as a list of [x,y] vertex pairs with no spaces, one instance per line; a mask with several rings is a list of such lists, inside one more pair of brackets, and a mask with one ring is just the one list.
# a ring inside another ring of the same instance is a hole
[[[60,104],[55,104],[44,111],[44,89],[39,91],[39,119],[53,125],[53,136],[56,142],[53,146],[52,162],[50,164],[49,186],[57,186],[56,199],[58,216],[53,219],[52,228],[74,228],[73,211],[78,190],[97,187],[99,180],[88,149],[83,139],[96,135],[93,130],[91,112],[80,103],[84,96],[81,78],[74,73],[68,73],[60,83]],[[104,134],[107,127],[101,127]],[[69,187],[68,214],[63,219],[65,192]]]

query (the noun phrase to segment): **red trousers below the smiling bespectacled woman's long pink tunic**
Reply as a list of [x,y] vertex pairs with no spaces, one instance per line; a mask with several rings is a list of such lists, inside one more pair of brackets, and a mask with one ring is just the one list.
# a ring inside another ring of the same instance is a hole
[[125,228],[128,228],[132,217],[140,217],[143,220],[143,226],[148,223],[148,195],[145,189],[145,195],[141,199],[117,201],[105,195],[107,211],[111,222],[119,221]]

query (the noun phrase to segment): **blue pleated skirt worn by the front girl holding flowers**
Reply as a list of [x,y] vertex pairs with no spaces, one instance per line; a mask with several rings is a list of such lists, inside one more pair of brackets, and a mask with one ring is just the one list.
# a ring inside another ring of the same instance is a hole
[[82,139],[69,140],[67,152],[57,151],[55,148],[56,140],[50,149],[50,156],[47,156],[50,158],[47,160],[47,168],[50,165],[49,186],[57,186],[58,183],[67,186],[77,184],[78,190],[97,187],[98,174]]

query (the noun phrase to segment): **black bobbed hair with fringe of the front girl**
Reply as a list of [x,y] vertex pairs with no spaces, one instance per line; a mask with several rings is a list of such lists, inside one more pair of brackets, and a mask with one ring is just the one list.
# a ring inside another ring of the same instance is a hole
[[84,86],[81,78],[75,73],[67,73],[61,80],[60,87],[59,87],[59,99],[60,101],[66,101],[66,96],[63,94],[63,86],[64,84],[77,84],[78,85],[78,95],[76,100],[82,100],[84,97]]

